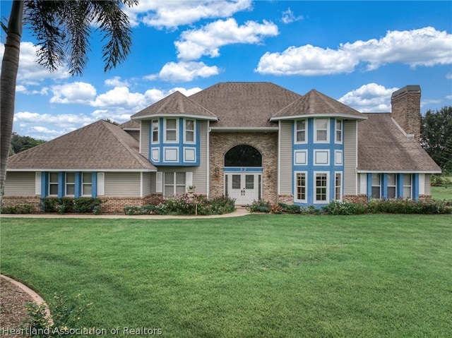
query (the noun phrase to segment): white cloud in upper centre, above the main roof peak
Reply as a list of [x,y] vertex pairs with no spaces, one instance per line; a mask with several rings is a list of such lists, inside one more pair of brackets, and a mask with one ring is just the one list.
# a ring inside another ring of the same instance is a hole
[[177,57],[188,61],[203,55],[219,56],[218,49],[227,44],[258,44],[264,37],[273,37],[278,33],[278,26],[266,20],[263,23],[247,21],[244,25],[238,25],[234,18],[229,18],[209,23],[198,30],[186,30],[174,44]]

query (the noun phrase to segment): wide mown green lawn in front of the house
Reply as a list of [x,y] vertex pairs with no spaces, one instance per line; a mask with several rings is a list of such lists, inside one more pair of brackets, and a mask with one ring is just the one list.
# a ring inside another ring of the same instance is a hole
[[93,306],[81,326],[108,332],[450,337],[451,221],[8,218],[1,219],[1,272],[46,299],[82,294]]

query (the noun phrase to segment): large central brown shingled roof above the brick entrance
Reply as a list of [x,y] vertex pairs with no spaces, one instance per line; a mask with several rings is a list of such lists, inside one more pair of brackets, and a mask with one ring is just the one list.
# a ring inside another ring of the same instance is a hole
[[266,82],[217,83],[190,96],[218,116],[214,128],[275,127],[270,117],[301,95]]

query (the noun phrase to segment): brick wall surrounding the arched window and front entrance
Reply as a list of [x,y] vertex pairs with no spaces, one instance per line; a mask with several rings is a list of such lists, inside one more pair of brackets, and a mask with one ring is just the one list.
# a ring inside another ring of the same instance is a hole
[[224,192],[225,154],[236,145],[251,145],[262,155],[262,198],[278,200],[278,133],[210,133],[210,197]]

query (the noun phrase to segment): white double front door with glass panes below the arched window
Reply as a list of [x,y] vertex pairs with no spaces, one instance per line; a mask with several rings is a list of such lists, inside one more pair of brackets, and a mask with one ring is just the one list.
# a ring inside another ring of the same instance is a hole
[[236,205],[249,205],[261,197],[261,173],[227,173],[226,194]]

